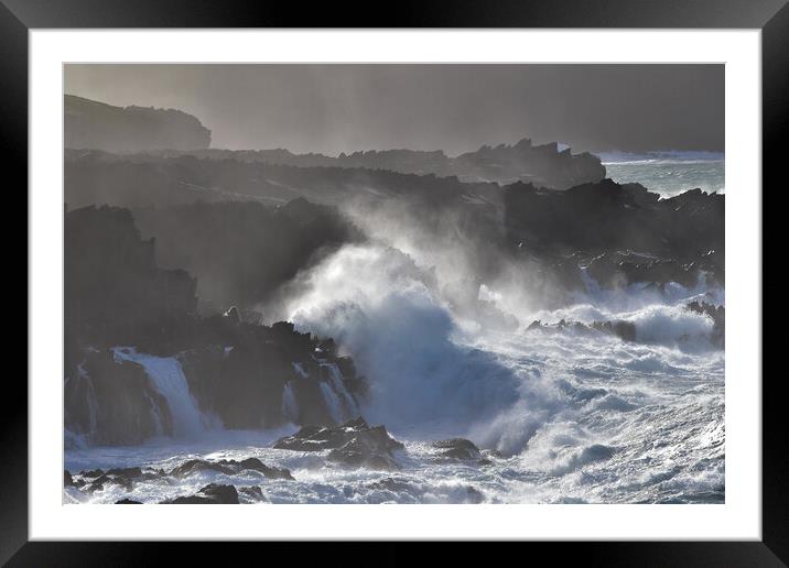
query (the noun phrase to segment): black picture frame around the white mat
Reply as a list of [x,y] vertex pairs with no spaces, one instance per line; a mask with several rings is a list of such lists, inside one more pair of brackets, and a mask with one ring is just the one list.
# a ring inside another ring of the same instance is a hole
[[[787,0],[444,0],[390,4],[324,2],[305,7],[237,0],[0,0],[0,141],[6,195],[22,198],[28,184],[28,32],[42,28],[701,28],[760,29],[763,78],[763,259],[780,259],[776,222],[783,163],[789,153],[789,6]],[[775,186],[775,187],[774,187]],[[53,195],[57,192],[53,188]],[[770,207],[764,197],[770,194]],[[775,193],[775,195],[774,195]],[[26,194],[25,194],[26,195]],[[28,201],[19,204],[28,210]],[[21,211],[22,209],[17,211]],[[18,216],[6,209],[7,216]],[[18,236],[19,233],[15,233]],[[11,241],[15,243],[19,238]],[[10,261],[9,261],[10,262]],[[25,265],[28,256],[25,252]],[[780,262],[770,266],[777,272]],[[777,298],[777,280],[765,280],[764,296]],[[26,272],[25,272],[26,274]],[[25,277],[25,284],[30,284]],[[29,302],[30,302],[30,296]],[[30,306],[29,306],[30,308]],[[769,321],[786,308],[770,304]],[[26,320],[26,319],[25,319]],[[767,375],[786,334],[770,334],[763,319],[763,539],[761,542],[580,543],[551,546],[583,555],[595,566],[786,566],[789,562],[789,461],[782,417],[785,376]],[[780,324],[778,324],[780,325]],[[18,332],[19,326],[11,326]],[[776,326],[777,327],[777,326]],[[780,343],[779,343],[780,342]],[[9,359],[21,359],[10,352]],[[26,359],[25,359],[26,360]],[[743,376],[738,380],[757,381]],[[28,542],[28,387],[9,373],[0,396],[0,562],[9,566],[140,566],[175,551],[186,562],[206,546],[197,543],[30,543]],[[670,506],[670,505],[669,505]],[[247,545],[248,547],[249,545]],[[267,555],[278,550],[266,544]],[[176,550],[172,548],[177,547]],[[287,553],[287,550],[282,550]],[[551,554],[555,554],[551,550]],[[397,561],[382,550],[372,558]],[[270,556],[274,558],[274,556]],[[404,560],[401,558],[401,560]]]

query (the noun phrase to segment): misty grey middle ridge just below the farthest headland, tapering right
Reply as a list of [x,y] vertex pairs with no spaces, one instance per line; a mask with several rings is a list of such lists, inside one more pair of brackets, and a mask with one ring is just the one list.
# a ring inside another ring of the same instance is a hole
[[469,194],[469,203],[484,205],[486,196],[498,188],[494,183],[466,184],[457,177],[387,170],[76,151],[66,152],[64,176],[66,203],[72,207],[108,204],[139,208],[227,200],[284,205],[299,197],[333,206],[354,198],[419,198],[442,205],[464,194]]

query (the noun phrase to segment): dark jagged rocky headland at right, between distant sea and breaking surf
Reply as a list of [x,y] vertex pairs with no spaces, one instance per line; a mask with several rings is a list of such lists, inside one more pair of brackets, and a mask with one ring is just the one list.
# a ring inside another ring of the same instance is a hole
[[694,285],[701,273],[724,282],[724,196],[685,192],[659,199],[638,184],[610,179],[566,192],[530,184],[504,190],[510,247],[541,259],[566,285],[633,282]]

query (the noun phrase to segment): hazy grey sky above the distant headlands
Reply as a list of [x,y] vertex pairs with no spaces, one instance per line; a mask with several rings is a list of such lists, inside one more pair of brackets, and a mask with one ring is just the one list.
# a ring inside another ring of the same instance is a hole
[[179,108],[214,148],[724,150],[723,65],[68,65],[65,91]]

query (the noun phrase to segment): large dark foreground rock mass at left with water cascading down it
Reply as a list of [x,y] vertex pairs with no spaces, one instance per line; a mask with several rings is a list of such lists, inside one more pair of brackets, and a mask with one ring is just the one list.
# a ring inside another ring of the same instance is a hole
[[65,232],[72,441],[331,425],[358,412],[366,382],[331,339],[244,321],[238,310],[197,316],[194,280],[156,265],[153,240],[141,238],[128,210],[67,212]]

